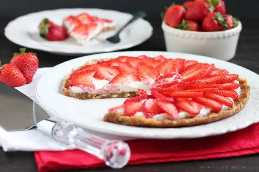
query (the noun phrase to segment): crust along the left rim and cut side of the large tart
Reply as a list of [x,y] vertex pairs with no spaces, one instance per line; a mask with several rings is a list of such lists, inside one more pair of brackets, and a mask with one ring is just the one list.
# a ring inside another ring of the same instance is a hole
[[[108,61],[114,58],[102,58],[98,60],[90,60],[86,63],[84,63],[82,66],[78,67],[76,70],[83,68],[84,66],[95,64],[97,62],[102,61]],[[73,97],[76,99],[86,100],[86,99],[107,99],[107,98],[130,98],[130,97],[136,97],[138,94],[137,92],[120,92],[120,93],[101,93],[101,94],[90,94],[87,92],[84,93],[74,93],[69,90],[69,76],[74,72],[75,70],[72,69],[71,73],[68,73],[67,76],[64,78],[62,90],[63,94],[68,97]]]

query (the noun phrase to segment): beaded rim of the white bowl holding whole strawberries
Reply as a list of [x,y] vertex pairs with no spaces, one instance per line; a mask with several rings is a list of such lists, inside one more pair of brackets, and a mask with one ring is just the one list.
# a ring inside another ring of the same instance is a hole
[[226,33],[235,33],[241,32],[242,30],[242,23],[238,21],[238,25],[235,28],[224,30],[224,31],[215,31],[215,32],[202,32],[202,31],[189,31],[189,30],[181,30],[177,28],[172,28],[165,23],[165,20],[162,21],[162,29],[166,32],[179,32],[179,33],[189,33],[189,34],[199,34],[199,35],[212,35],[212,34],[226,34]]

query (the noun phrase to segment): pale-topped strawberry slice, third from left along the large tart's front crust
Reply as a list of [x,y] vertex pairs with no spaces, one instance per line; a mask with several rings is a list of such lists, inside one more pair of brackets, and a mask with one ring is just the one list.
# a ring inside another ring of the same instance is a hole
[[152,118],[154,115],[162,113],[154,99],[147,99],[142,104],[142,110],[146,118]]

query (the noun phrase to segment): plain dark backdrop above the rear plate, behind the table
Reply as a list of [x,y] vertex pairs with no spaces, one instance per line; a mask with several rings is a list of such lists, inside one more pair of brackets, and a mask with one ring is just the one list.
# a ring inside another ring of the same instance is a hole
[[[149,18],[159,18],[164,6],[184,0],[0,0],[0,16],[20,16],[31,12],[57,8],[103,8],[134,13],[148,12]],[[227,13],[240,20],[259,19],[258,0],[225,0]]]

